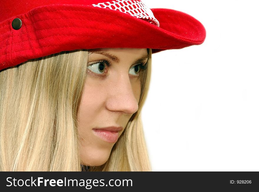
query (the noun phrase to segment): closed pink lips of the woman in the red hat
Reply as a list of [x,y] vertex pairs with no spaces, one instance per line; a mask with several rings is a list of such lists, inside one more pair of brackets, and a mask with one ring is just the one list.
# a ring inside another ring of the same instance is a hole
[[119,131],[122,127],[106,127],[106,128],[94,128],[95,135],[108,143],[115,143],[119,137]]

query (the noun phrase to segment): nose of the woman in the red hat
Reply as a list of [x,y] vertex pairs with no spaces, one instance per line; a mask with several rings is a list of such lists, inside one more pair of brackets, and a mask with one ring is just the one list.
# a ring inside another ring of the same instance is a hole
[[[134,86],[134,89],[140,89],[140,87]],[[132,84],[128,74],[120,74],[118,77],[109,81],[107,93],[106,108],[109,111],[119,111],[124,114],[137,112],[138,101],[136,97],[137,94],[140,94],[140,91],[132,90]]]

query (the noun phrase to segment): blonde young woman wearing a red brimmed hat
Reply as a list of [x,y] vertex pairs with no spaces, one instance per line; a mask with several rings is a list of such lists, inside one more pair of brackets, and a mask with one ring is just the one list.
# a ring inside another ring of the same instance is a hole
[[141,1],[4,1],[1,171],[150,171],[140,112],[151,55],[205,29]]

